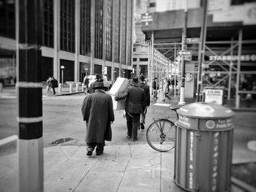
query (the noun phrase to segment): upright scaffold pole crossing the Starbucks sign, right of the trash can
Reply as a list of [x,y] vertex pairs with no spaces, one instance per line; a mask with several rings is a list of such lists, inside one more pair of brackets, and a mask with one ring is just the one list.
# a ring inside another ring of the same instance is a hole
[[242,51],[242,38],[243,30],[239,29],[238,34],[238,60],[237,60],[237,73],[236,73],[236,109],[240,106],[240,95],[239,95],[239,85],[240,85],[240,71],[241,71],[241,51]]

